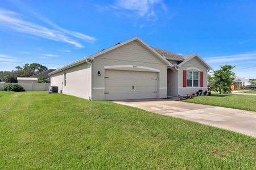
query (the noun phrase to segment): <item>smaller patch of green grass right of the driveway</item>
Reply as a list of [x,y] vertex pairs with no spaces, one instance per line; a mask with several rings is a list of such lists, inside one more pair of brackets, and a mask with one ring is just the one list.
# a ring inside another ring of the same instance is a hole
[[189,103],[216,105],[225,108],[242,109],[246,111],[256,111],[256,96],[249,95],[212,94],[211,96],[199,96],[184,101]]

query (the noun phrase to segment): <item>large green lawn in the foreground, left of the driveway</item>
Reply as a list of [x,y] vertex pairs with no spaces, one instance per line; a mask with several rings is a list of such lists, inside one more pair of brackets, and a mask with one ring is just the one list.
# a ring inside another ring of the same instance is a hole
[[232,131],[108,101],[0,92],[0,169],[255,169],[255,158],[256,139]]

